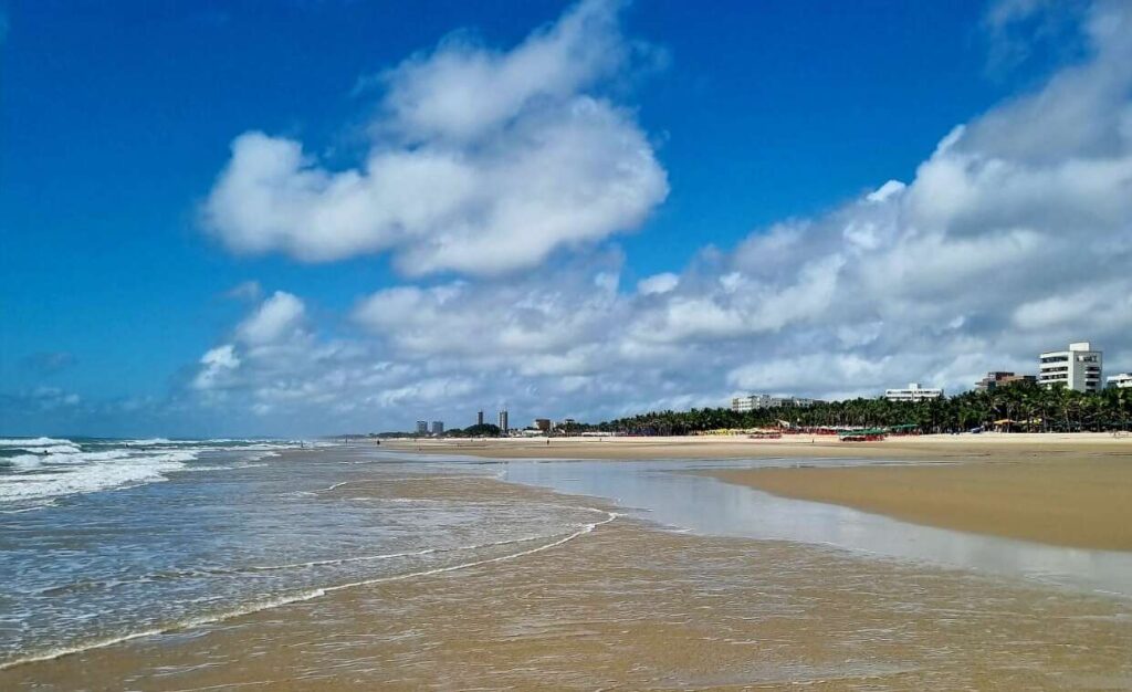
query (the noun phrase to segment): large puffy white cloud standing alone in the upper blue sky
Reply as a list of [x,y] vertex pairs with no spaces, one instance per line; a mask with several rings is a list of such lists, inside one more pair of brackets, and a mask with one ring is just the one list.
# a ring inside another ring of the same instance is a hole
[[230,249],[328,262],[392,251],[411,275],[495,275],[638,227],[668,194],[628,109],[600,88],[632,68],[619,3],[584,0],[509,51],[457,34],[379,78],[372,146],[331,170],[259,131],[204,206]]

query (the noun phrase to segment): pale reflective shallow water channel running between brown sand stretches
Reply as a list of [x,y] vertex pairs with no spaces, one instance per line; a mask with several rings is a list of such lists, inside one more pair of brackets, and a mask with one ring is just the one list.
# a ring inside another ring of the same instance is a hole
[[634,509],[642,518],[703,535],[829,545],[1132,598],[1132,553],[1065,548],[923,527],[849,507],[777,497],[691,472],[860,463],[866,462],[524,461],[505,463],[503,477],[559,493],[606,497]]

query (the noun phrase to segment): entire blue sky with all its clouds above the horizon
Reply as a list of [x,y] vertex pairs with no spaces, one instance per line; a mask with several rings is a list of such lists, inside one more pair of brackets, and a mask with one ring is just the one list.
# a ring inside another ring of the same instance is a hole
[[0,434],[1132,369],[1132,5],[0,3]]

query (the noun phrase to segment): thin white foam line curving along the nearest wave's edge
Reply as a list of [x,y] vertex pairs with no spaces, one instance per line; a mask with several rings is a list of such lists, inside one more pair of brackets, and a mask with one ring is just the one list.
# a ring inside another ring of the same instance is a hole
[[469,570],[471,567],[479,567],[482,565],[508,562],[516,559],[518,557],[525,557],[528,555],[534,555],[535,553],[541,553],[543,550],[549,550],[550,548],[557,548],[560,545],[567,544],[575,538],[585,536],[592,532],[598,527],[602,527],[618,516],[621,516],[617,512],[607,512],[606,510],[599,510],[597,507],[578,507],[582,510],[588,510],[591,512],[598,512],[606,515],[606,519],[601,521],[585,524],[577,531],[569,533],[565,538],[559,538],[552,543],[538,546],[535,548],[529,548],[526,550],[520,550],[518,553],[509,553],[507,555],[500,555],[498,557],[489,557],[484,559],[477,559],[473,562],[465,562],[458,565],[449,565],[447,567],[436,567],[432,570],[422,570],[420,572],[410,572],[408,574],[394,574],[391,576],[377,576],[375,579],[363,579],[361,581],[352,581],[344,584],[337,584],[334,587],[320,587],[318,589],[311,589],[310,591],[303,591],[302,593],[294,593],[292,596],[283,596],[280,598],[273,598],[271,600],[260,601],[258,604],[252,604],[250,606],[245,606],[242,608],[237,608],[234,610],[229,610],[228,613],[220,613],[217,615],[205,615],[201,617],[194,617],[180,623],[174,623],[163,627],[153,627],[151,630],[144,630],[142,632],[132,632],[130,634],[123,634],[121,637],[110,637],[98,641],[93,641],[86,644],[75,646],[75,647],[63,647],[59,649],[53,649],[45,653],[38,656],[28,656],[26,658],[18,658],[15,660],[9,660],[0,663],[0,670],[7,670],[9,668],[15,668],[16,666],[22,666],[24,664],[40,663],[44,660],[54,660],[57,658],[62,658],[65,656],[71,656],[74,653],[82,653],[83,651],[89,651],[92,649],[103,649],[105,647],[112,647],[114,644],[120,644],[127,641],[132,641],[135,639],[144,639],[146,637],[155,637],[157,634],[168,634],[169,632],[177,632],[180,630],[190,630],[192,627],[199,627],[201,625],[211,625],[218,622],[224,622],[232,620],[233,617],[240,617],[242,615],[251,615],[252,613],[260,613],[263,610],[269,610],[272,608],[278,608],[281,606],[286,606],[294,603],[301,603],[306,600],[312,600],[315,598],[320,598],[327,593],[334,593],[335,591],[344,591],[346,589],[357,589],[358,587],[368,587],[372,584],[386,583],[392,581],[404,581],[406,579],[413,579],[414,576],[430,576],[432,574],[443,574],[445,572],[456,572],[458,570]]

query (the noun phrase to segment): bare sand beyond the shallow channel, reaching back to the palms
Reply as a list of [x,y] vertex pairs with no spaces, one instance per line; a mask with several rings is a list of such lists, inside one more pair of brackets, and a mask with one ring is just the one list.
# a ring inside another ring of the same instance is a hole
[[[914,523],[1079,548],[1132,550],[1132,438],[928,435],[835,438],[607,437],[400,443],[422,453],[501,459],[866,459],[852,468],[722,470],[769,493]],[[397,445],[395,445],[397,446]],[[892,463],[907,461],[912,463]]]

